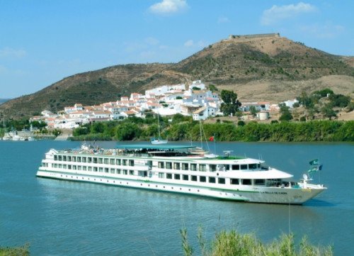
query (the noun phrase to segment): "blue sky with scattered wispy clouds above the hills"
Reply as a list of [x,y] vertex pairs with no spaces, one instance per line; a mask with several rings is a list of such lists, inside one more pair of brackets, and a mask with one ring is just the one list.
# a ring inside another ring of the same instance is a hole
[[353,0],[0,0],[0,99],[103,67],[179,62],[229,35],[354,56],[353,13]]

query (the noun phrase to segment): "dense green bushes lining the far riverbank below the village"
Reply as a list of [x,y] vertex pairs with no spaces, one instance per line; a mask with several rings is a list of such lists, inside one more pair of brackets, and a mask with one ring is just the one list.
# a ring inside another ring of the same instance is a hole
[[[200,124],[180,114],[160,117],[161,136],[169,140],[200,140]],[[217,141],[354,141],[354,121],[280,123],[204,123],[205,137]],[[127,118],[94,123],[74,130],[73,140],[149,140],[158,135],[157,118]],[[204,135],[203,135],[204,137]]]

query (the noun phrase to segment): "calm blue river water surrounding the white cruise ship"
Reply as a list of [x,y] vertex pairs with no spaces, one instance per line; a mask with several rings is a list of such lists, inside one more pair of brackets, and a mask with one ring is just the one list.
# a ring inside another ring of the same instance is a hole
[[[96,143],[114,148],[115,142]],[[345,143],[210,143],[211,151],[262,158],[300,179],[309,160],[324,165],[328,189],[302,206],[218,201],[35,177],[50,148],[69,141],[0,141],[0,245],[30,243],[31,255],[182,255],[179,230],[198,250],[198,226],[211,239],[222,229],[254,233],[264,243],[291,230],[315,245],[353,255],[354,145]]]

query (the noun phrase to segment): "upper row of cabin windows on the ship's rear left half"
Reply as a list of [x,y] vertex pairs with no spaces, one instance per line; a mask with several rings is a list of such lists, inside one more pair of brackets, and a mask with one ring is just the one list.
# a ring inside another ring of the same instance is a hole
[[76,157],[71,155],[55,155],[54,160],[64,162],[89,162],[93,164],[134,166],[134,160],[105,157]]

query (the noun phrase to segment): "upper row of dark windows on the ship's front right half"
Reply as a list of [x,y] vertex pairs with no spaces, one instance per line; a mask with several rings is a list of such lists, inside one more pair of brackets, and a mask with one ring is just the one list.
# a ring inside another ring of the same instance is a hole
[[[179,163],[179,162],[159,162],[158,167],[161,169],[182,169],[182,170],[191,170],[191,171],[200,171],[206,172],[207,165],[204,164],[188,164],[188,163]],[[232,170],[244,170],[244,169],[257,169],[261,168],[260,164],[249,164],[249,165],[224,165],[225,170],[229,170],[231,167]],[[217,165],[209,165],[210,172],[217,171]]]

